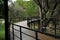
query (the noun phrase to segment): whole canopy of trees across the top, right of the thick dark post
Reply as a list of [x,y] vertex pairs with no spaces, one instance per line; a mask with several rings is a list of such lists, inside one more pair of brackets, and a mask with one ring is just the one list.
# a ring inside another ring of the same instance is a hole
[[[56,17],[60,14],[60,0],[16,0],[9,6],[9,17],[21,17],[23,19],[32,16],[39,16],[39,7],[42,19]],[[18,15],[18,16],[17,16]],[[60,16],[60,15],[59,15]]]

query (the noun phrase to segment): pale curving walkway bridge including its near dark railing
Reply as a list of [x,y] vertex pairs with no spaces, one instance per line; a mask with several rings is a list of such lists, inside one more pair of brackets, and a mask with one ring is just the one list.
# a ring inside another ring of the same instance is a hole
[[11,24],[10,35],[11,40],[60,40],[60,38],[30,29],[27,20]]

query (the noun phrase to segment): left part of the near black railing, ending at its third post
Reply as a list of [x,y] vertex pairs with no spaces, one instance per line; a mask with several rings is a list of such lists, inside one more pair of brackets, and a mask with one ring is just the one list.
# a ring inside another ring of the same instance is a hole
[[[15,29],[14,26],[19,27],[20,30]],[[29,34],[26,34],[26,33],[22,32],[22,28],[28,29],[28,30],[31,30],[31,31],[34,31],[36,37],[33,37],[33,36],[29,35]],[[14,34],[14,30],[20,32],[20,37],[18,37],[17,35]],[[38,32],[37,32],[36,30],[32,30],[32,29],[29,29],[29,28],[26,28],[26,27],[23,27],[23,26],[19,26],[19,25],[16,25],[16,24],[12,24],[12,34],[13,34],[13,38],[12,38],[12,39],[13,39],[13,40],[15,39],[14,36],[16,36],[17,38],[19,38],[20,40],[22,40],[22,34],[25,34],[25,35],[27,35],[27,36],[29,36],[29,37],[31,37],[31,38],[34,38],[34,39],[36,39],[36,40],[39,40],[37,33],[38,33]]]

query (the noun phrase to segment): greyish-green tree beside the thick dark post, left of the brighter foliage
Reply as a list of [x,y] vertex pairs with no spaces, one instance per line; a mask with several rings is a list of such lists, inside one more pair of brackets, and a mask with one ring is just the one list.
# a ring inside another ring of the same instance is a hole
[[24,9],[17,2],[12,3],[8,7],[9,7],[9,11],[8,11],[9,16],[8,17],[12,22],[18,22],[18,21],[20,21],[19,19],[22,20],[22,18],[25,19],[25,17],[24,17],[25,14],[23,13]]

